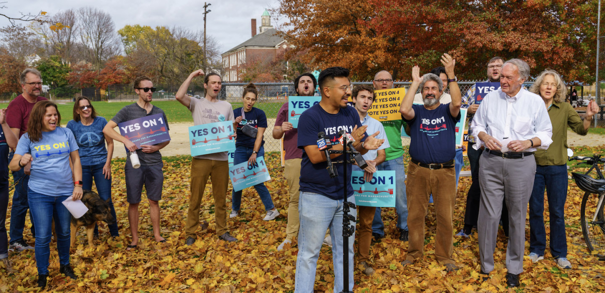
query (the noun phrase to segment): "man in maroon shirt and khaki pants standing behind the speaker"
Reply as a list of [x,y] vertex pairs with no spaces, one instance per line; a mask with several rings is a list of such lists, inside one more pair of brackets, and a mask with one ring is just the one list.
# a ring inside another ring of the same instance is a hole
[[[294,89],[298,96],[312,96],[316,85],[317,80],[310,73],[302,74],[294,80]],[[298,227],[300,224],[298,219],[298,188],[300,187],[298,180],[301,176],[302,150],[298,148],[298,130],[292,127],[292,123],[288,122],[287,114],[288,102],[285,102],[277,113],[277,119],[273,127],[274,139],[284,137],[284,151],[286,151],[286,155],[284,156],[284,177],[286,177],[288,186],[290,187],[286,240],[281,242],[277,250],[283,250],[284,245],[292,243],[294,238],[298,236]]]

